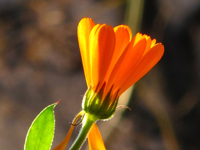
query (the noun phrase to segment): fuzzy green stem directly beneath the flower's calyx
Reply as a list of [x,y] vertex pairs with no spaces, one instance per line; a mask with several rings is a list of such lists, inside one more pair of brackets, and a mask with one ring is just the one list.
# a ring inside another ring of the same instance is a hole
[[87,134],[89,133],[90,128],[96,121],[97,121],[96,117],[90,114],[85,114],[82,128],[69,150],[79,150],[81,148],[81,146],[83,145],[84,141],[87,138]]

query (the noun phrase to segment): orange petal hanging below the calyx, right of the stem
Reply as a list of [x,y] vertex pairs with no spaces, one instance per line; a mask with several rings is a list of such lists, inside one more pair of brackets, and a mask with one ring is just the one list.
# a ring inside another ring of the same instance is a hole
[[106,150],[97,125],[94,123],[88,134],[89,150]]

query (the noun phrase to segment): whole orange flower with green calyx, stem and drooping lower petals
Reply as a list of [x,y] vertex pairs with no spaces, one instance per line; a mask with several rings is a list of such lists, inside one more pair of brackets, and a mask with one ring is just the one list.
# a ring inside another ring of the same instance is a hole
[[61,150],[66,146],[74,126],[79,124],[77,119],[82,116],[82,128],[70,150],[80,149],[86,138],[90,150],[104,150],[96,121],[113,117],[119,96],[158,63],[164,46],[145,34],[137,33],[132,38],[126,25],[113,28],[95,24],[90,18],[79,22],[77,35],[88,89],[82,111],[74,119],[67,140],[58,147]]

